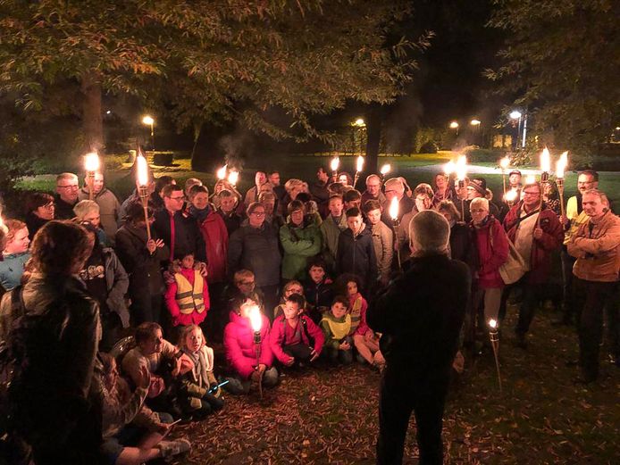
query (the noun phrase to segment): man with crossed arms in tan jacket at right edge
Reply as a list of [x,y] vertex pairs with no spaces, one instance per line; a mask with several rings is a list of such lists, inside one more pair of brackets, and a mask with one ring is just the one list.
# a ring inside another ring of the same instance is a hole
[[591,383],[599,376],[603,308],[618,284],[620,218],[609,211],[607,198],[598,190],[586,190],[582,206],[588,220],[577,228],[567,249],[577,259],[573,268],[573,290],[582,369],[582,378],[578,381]]

